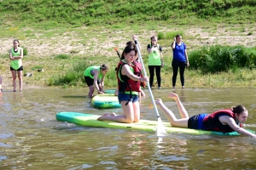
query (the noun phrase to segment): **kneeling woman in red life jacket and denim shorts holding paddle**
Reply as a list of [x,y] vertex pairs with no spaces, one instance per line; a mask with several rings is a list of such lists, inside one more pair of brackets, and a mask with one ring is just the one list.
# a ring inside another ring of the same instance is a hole
[[115,122],[138,122],[140,120],[140,106],[138,93],[140,92],[140,82],[148,82],[148,77],[140,77],[141,68],[134,61],[137,49],[133,46],[126,46],[119,65],[117,67],[117,79],[119,84],[119,103],[125,115],[104,114],[99,117],[100,121]]

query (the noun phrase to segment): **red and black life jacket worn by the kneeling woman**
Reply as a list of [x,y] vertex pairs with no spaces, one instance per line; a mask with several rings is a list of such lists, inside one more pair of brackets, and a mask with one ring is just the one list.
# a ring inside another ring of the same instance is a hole
[[[133,65],[129,65],[130,67],[133,68],[133,74],[136,75],[137,77],[141,77],[142,75],[142,65],[138,65],[137,62],[132,62]],[[140,92],[140,82],[138,81],[134,81],[131,78],[124,76],[121,74],[121,69],[123,67],[123,65],[128,65],[125,60],[121,60],[119,62],[119,65],[117,67],[117,71],[116,71],[116,77],[118,79],[118,83],[119,83],[119,92],[131,92],[131,91],[135,91],[135,92]],[[120,76],[120,77],[119,77]]]

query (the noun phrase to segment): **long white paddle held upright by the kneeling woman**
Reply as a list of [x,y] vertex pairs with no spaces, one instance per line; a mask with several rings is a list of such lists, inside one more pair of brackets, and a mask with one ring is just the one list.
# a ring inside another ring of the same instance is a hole
[[[140,59],[140,62],[143,65],[143,74],[144,74],[145,77],[147,77],[147,73],[146,73],[146,70],[145,70],[145,67],[144,67],[144,64],[143,64],[143,58],[141,56],[137,41],[135,41],[135,44],[136,44],[136,48],[137,48],[138,58]],[[156,116],[157,116],[157,121],[158,121],[158,123],[157,123],[157,133],[166,133],[166,127],[164,126],[164,124],[163,124],[163,122],[160,118],[159,112],[157,110],[157,106],[155,105],[154,96],[152,94],[149,82],[147,82],[147,85],[148,85],[148,91],[149,91],[150,97],[152,99],[152,103],[154,105],[154,110],[155,110],[155,113],[156,113]]]

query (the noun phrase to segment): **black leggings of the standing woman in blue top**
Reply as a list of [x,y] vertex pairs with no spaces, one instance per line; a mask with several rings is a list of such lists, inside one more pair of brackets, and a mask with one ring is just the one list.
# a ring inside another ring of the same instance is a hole
[[177,59],[172,59],[172,86],[175,87],[176,85],[176,79],[177,79],[177,69],[179,68],[179,76],[180,76],[180,82],[182,83],[182,86],[185,84],[185,78],[184,78],[184,71],[186,68],[186,61],[179,61]]

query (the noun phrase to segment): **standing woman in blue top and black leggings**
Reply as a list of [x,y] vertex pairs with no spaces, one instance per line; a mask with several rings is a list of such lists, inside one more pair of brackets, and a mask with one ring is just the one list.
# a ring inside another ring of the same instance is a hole
[[172,42],[172,52],[173,52],[173,59],[172,59],[172,88],[175,88],[176,79],[177,79],[177,70],[179,68],[179,76],[180,81],[182,84],[182,88],[185,88],[185,78],[184,78],[184,71],[185,67],[189,67],[189,58],[187,54],[186,45],[182,42],[181,35],[177,35],[174,37],[174,42]]

